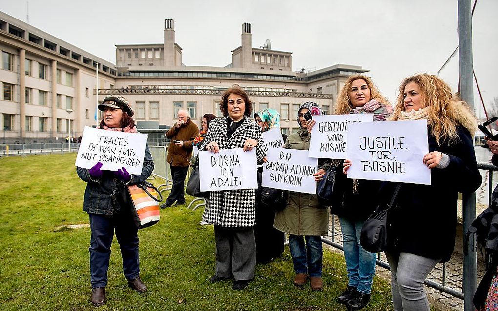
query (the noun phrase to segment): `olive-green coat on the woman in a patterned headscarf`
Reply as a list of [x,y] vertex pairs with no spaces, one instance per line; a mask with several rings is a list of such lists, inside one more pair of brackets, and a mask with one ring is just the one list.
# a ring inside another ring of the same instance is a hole
[[[310,136],[305,129],[299,128],[297,133],[287,137],[284,148],[308,150]],[[287,206],[276,212],[273,226],[294,235],[327,235],[329,210],[318,202],[316,194],[290,191]]]

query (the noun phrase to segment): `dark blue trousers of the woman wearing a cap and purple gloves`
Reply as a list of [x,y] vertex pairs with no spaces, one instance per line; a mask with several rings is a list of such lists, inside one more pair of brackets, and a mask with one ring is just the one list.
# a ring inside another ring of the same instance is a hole
[[90,275],[92,287],[107,285],[107,270],[111,259],[111,244],[114,231],[120,243],[123,257],[123,272],[128,280],[140,274],[138,265],[138,229],[129,215],[100,215],[88,213],[90,216]]

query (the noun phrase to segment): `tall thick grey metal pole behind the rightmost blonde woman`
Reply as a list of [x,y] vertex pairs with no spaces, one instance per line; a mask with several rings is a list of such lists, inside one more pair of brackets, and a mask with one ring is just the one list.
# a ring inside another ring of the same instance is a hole
[[[474,106],[474,83],[472,64],[472,5],[471,0],[458,0],[458,29],[460,46],[460,97],[471,108]],[[476,193],[463,194],[464,234],[476,218]],[[475,310],[472,303],[477,288],[477,256],[472,249],[473,243],[468,243],[464,251],[464,311]]]

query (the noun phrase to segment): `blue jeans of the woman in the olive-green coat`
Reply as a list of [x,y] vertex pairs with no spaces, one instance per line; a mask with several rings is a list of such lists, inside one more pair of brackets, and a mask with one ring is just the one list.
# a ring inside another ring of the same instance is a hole
[[[306,246],[304,245],[306,241]],[[322,276],[322,240],[320,236],[289,235],[289,249],[296,274],[307,273],[310,277]]]

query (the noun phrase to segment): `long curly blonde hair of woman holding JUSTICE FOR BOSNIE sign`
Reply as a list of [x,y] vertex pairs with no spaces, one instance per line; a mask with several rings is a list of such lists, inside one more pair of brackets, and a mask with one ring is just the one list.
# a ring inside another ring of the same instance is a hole
[[456,131],[457,125],[462,125],[474,136],[478,120],[469,106],[460,101],[460,98],[451,92],[450,86],[435,75],[426,73],[408,77],[401,82],[399,94],[394,107],[391,120],[401,118],[404,107],[404,89],[410,82],[420,87],[422,103],[424,107],[430,107],[428,111],[428,124],[431,133],[439,145],[448,140],[452,144],[459,141]]

